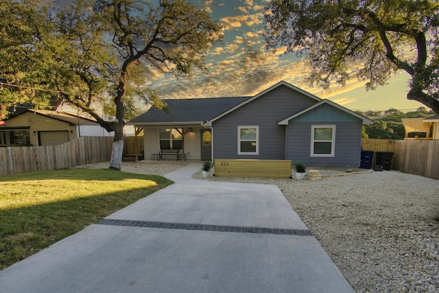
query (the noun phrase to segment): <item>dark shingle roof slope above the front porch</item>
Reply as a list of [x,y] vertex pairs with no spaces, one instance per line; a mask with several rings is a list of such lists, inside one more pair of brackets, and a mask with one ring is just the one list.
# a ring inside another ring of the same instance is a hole
[[204,99],[164,99],[167,111],[150,108],[128,124],[157,122],[204,122],[237,106],[249,97],[211,97]]

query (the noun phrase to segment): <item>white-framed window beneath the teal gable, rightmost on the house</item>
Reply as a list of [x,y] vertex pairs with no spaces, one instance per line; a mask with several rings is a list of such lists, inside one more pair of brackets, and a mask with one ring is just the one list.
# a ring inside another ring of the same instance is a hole
[[311,156],[334,156],[335,125],[311,126]]

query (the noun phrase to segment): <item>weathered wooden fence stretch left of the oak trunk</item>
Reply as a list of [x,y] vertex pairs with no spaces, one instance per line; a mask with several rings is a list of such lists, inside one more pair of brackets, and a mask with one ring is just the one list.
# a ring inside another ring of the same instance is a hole
[[0,176],[110,161],[112,137],[80,137],[62,145],[0,148]]

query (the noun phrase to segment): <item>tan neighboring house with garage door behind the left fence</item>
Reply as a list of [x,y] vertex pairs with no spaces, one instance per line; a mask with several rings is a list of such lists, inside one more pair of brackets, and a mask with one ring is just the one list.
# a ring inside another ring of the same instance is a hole
[[59,145],[78,137],[106,137],[96,121],[51,110],[25,110],[0,126],[1,146]]

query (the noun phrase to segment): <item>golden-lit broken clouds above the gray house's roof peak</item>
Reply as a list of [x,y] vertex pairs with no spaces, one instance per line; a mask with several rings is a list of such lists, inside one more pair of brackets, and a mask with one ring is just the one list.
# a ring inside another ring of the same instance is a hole
[[[204,3],[215,5],[213,1]],[[246,13],[254,8],[252,0],[246,0],[245,3],[245,8],[235,8],[235,11]],[[259,24],[263,22],[261,12],[223,17],[220,21],[224,24],[224,30],[233,30],[230,34],[237,32],[238,35],[234,36],[230,43],[215,47],[206,56],[206,66],[209,69],[207,72],[194,70],[192,78],[175,78],[171,75],[158,78],[160,73],[154,75],[154,80],[157,81],[152,85],[160,91],[160,97],[169,99],[251,96],[281,80],[322,98],[333,97],[364,86],[364,83],[357,80],[348,81],[345,88],[333,86],[329,91],[309,86],[306,78],[311,67],[306,58],[297,60],[294,54],[283,54],[285,47],[277,48],[274,54],[265,49],[265,42],[259,36]],[[250,29],[246,25],[249,25]],[[340,104],[355,101],[355,98],[350,99],[348,95],[342,96],[344,99],[340,100],[339,97],[337,96],[337,101]]]

